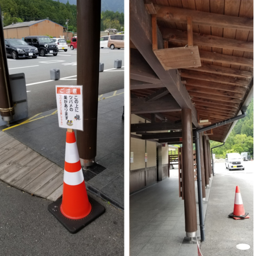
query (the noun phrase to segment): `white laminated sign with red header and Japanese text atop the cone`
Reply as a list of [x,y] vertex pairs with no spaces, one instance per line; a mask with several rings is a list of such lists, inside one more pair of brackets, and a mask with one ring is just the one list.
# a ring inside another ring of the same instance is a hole
[[59,127],[83,131],[82,85],[56,85]]

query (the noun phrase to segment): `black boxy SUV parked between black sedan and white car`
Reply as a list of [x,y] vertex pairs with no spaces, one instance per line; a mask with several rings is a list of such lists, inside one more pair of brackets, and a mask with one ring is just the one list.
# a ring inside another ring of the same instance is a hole
[[36,47],[40,56],[45,56],[45,54],[53,54],[54,56],[57,55],[57,44],[52,43],[49,36],[26,36],[24,41],[30,46]]

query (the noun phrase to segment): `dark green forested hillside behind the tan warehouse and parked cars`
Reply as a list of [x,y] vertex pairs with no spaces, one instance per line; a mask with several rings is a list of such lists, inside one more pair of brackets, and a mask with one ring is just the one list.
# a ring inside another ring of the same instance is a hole
[[[66,27],[68,31],[77,32],[77,6],[53,0],[0,0],[3,13],[3,26],[31,20],[50,19]],[[102,11],[101,30],[116,28],[123,30],[124,14],[116,11]]]

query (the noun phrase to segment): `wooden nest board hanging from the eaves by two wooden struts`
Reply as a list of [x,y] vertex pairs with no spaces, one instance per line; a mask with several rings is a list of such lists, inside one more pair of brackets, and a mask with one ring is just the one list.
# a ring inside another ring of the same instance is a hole
[[187,17],[188,44],[185,47],[168,48],[164,41],[164,49],[157,46],[157,19],[152,14],[152,45],[153,52],[165,70],[177,68],[201,67],[198,46],[193,46],[192,17]]

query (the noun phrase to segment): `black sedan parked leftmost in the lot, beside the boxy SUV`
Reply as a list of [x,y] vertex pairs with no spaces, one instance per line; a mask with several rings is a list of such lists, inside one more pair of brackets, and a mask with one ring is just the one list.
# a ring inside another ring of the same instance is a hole
[[35,59],[39,55],[37,48],[29,46],[22,39],[5,39],[5,49],[6,55],[14,60],[30,56]]

